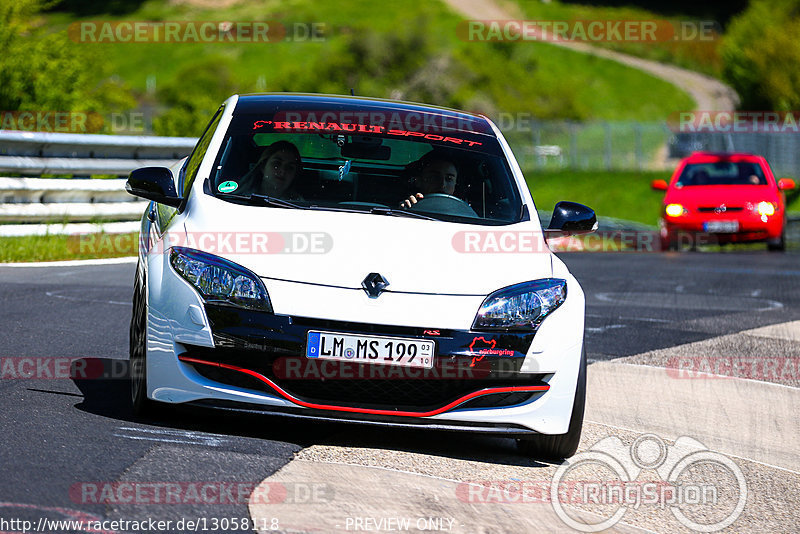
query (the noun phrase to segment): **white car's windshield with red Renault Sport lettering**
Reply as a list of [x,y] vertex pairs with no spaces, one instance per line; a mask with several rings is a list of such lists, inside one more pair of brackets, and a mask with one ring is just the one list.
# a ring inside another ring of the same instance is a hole
[[521,220],[522,201],[493,135],[272,119],[234,115],[209,179],[214,196],[268,208]]

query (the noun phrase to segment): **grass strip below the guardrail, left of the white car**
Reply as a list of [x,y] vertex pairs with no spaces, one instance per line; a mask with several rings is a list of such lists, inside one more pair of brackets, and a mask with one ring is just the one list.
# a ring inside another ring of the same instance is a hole
[[138,233],[0,238],[0,262],[120,258],[137,254]]

